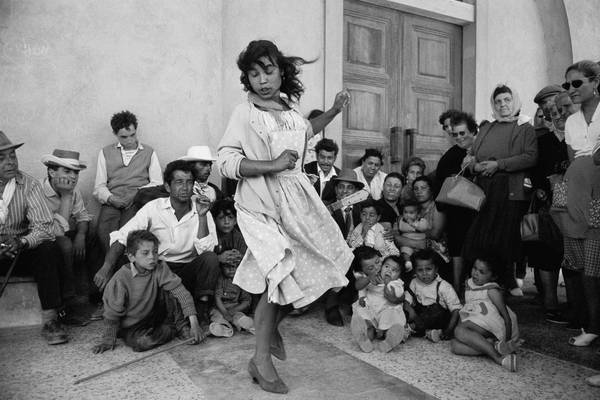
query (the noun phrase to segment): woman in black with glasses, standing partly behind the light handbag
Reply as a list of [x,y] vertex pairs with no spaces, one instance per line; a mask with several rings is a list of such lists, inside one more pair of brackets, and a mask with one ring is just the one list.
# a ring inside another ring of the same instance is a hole
[[[450,118],[448,135],[454,141],[454,146],[440,158],[435,170],[436,194],[439,192],[444,179],[458,174],[463,162],[469,160],[468,152],[473,146],[477,133],[477,122],[471,114],[456,111]],[[467,230],[473,222],[475,212],[464,207],[450,205],[440,206],[447,218],[446,233],[448,237],[448,252],[452,258],[452,286],[456,293],[460,293],[460,286],[464,282],[464,261],[462,247]]]

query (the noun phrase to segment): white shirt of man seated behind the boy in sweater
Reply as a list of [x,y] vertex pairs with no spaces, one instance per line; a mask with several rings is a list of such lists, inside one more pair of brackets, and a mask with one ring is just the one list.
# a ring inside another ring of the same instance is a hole
[[218,244],[217,229],[210,212],[206,214],[208,235],[198,239],[198,212],[192,207],[177,220],[169,197],[148,202],[121,229],[110,234],[110,244],[126,245],[129,232],[148,229],[159,240],[158,254],[167,262],[187,263]]

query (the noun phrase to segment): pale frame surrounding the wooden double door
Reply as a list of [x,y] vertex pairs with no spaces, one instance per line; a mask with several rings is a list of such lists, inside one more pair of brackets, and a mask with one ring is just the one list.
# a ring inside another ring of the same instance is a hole
[[[463,26],[462,49],[462,107],[475,112],[476,82],[467,77],[475,75],[475,6],[474,0],[361,0],[375,6],[432,18]],[[344,0],[324,0],[325,51],[324,96],[335,98],[344,84]],[[327,127],[327,136],[342,148],[342,118],[335,118]],[[342,157],[336,164],[341,165]]]

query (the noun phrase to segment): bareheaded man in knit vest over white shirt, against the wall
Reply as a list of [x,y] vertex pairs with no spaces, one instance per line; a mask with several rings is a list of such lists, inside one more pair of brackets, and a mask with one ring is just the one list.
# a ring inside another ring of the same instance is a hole
[[102,204],[98,216],[98,240],[108,251],[109,234],[135,214],[133,198],[141,187],[162,185],[156,152],[137,139],[137,118],[122,111],[110,120],[117,143],[98,154],[94,197]]

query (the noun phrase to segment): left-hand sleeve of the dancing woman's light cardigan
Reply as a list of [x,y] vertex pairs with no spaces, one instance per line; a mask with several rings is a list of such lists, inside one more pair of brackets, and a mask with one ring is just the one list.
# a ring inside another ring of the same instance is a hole
[[225,134],[217,147],[217,168],[222,176],[230,179],[241,179],[240,164],[246,158],[242,150],[241,137],[245,132],[244,121],[242,119],[241,107],[237,107],[229,123]]

